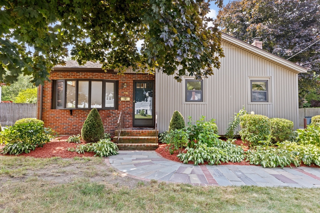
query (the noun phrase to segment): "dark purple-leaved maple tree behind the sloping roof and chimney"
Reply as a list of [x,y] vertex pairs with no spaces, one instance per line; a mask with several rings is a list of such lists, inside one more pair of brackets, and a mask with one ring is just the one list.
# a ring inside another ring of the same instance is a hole
[[[238,0],[217,15],[221,31],[245,42],[261,37],[263,49],[302,65],[299,74],[299,106],[312,92],[320,96],[319,0]],[[313,44],[307,48],[309,45]],[[301,50],[307,48],[296,56]]]

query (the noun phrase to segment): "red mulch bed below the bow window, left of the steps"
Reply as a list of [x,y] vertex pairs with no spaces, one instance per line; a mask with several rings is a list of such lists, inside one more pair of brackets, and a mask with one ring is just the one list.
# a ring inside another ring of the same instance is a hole
[[[47,158],[47,157],[61,157],[61,158],[73,158],[73,157],[92,157],[94,156],[94,152],[85,152],[84,154],[78,154],[77,152],[67,151],[68,147],[76,147],[76,145],[85,144],[84,141],[81,140],[81,143],[68,143],[66,140],[69,136],[63,136],[56,138],[49,143],[43,145],[43,147],[37,147],[34,151],[30,153],[22,153],[18,156],[30,156],[36,158]],[[60,141],[59,141],[60,139]],[[2,146],[0,146],[0,149]],[[1,155],[1,154],[0,154]],[[11,155],[5,155],[11,156]],[[12,155],[14,156],[14,155]]]

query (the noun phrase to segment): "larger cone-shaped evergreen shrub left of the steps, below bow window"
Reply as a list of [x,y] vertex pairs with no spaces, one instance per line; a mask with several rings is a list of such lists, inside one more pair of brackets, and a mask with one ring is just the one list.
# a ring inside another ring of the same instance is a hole
[[100,114],[96,108],[93,108],[84,121],[81,129],[81,138],[86,142],[97,142],[103,139],[104,129]]

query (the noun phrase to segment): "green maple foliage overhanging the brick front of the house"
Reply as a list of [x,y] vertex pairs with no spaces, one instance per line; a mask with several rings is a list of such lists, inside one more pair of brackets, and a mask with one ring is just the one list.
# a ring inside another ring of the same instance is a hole
[[23,74],[43,84],[54,65],[65,63],[69,45],[80,65],[100,62],[119,74],[133,67],[176,72],[178,81],[186,73],[211,75],[223,56],[218,28],[208,27],[211,1],[0,0],[0,81]]

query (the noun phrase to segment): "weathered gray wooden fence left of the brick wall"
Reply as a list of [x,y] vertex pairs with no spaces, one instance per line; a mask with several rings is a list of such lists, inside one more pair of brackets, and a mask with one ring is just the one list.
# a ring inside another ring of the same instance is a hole
[[1,126],[12,126],[21,118],[36,118],[36,103],[0,103]]

